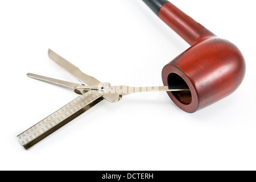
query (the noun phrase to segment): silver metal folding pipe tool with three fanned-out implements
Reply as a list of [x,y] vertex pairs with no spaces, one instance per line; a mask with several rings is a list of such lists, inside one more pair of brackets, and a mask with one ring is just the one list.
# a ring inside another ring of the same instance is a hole
[[110,102],[117,102],[121,100],[122,96],[131,93],[152,91],[175,92],[188,90],[188,88],[168,88],[168,86],[131,87],[123,85],[111,86],[109,83],[102,84],[96,78],[82,73],[79,68],[69,63],[63,57],[57,55],[51,49],[48,50],[48,55],[57,65],[59,65],[73,77],[77,78],[77,80],[81,81],[82,84],[57,80],[55,78],[35,75],[32,73],[27,73],[27,76],[72,89],[75,93],[82,95],[69,102],[69,104],[65,105],[64,107],[61,107],[61,109],[55,111],[55,113],[52,113],[36,125],[19,134],[17,137],[20,143],[26,149],[30,148],[35,143],[38,143],[43,138],[59,129],[61,126],[64,126],[72,119],[78,117],[86,110],[98,104],[104,100],[104,98]]

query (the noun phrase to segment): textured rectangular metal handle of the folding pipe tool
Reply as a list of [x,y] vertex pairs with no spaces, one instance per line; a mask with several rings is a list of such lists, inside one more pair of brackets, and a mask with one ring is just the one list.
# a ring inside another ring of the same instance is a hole
[[110,86],[106,84],[104,84],[104,88],[104,91],[90,90],[69,102],[64,107],[61,107],[61,109],[55,111],[55,113],[52,113],[47,118],[19,134],[17,136],[19,142],[24,148],[28,149],[40,140],[46,138],[49,134],[102,101],[102,96],[111,89]]

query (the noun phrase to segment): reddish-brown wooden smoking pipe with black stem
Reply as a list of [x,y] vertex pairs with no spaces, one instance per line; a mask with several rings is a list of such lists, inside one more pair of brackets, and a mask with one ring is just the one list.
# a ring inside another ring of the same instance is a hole
[[191,45],[162,71],[165,86],[189,89],[168,93],[180,109],[194,113],[240,86],[245,77],[245,60],[234,44],[218,38],[169,1],[142,1]]

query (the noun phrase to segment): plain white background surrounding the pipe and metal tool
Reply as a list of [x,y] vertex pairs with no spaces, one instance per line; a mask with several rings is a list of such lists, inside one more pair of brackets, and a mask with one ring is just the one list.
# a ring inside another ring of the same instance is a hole
[[231,96],[194,114],[166,93],[103,101],[29,150],[22,133],[75,99],[27,72],[76,82],[48,48],[112,85],[159,86],[189,46],[140,0],[0,1],[1,170],[256,169],[255,1],[172,3],[236,44],[247,72]]

